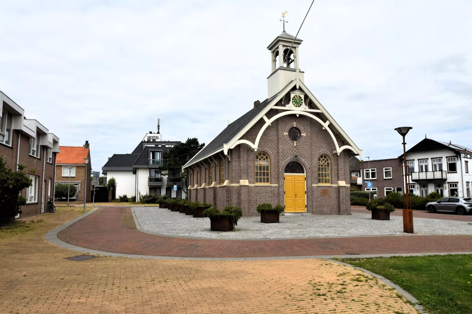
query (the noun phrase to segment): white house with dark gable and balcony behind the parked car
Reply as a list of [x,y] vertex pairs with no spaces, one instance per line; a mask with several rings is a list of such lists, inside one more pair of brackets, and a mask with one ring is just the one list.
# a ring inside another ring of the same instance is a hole
[[[403,155],[399,156],[403,163]],[[409,190],[419,196],[470,197],[472,149],[451,142],[424,139],[406,151]]]

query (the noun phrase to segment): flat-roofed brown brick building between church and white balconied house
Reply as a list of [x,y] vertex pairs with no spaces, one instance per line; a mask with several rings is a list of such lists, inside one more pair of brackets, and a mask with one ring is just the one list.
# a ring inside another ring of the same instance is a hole
[[[360,163],[363,176],[362,190],[376,191],[378,198],[384,198],[390,192],[403,193],[405,185],[402,173],[402,162],[399,158],[378,159]],[[372,182],[372,188],[367,187],[366,181]]]

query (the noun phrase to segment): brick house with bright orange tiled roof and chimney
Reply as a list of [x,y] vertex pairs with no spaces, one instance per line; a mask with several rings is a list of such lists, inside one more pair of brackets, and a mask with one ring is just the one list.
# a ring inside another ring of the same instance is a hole
[[90,144],[88,140],[85,141],[83,147],[80,146],[60,146],[60,153],[57,154],[56,162],[56,184],[69,182],[69,167],[70,184],[76,187],[76,195],[69,198],[70,202],[84,202],[84,186],[87,181],[87,202],[90,202],[92,184],[90,182],[92,161],[85,164],[84,158],[90,158]]

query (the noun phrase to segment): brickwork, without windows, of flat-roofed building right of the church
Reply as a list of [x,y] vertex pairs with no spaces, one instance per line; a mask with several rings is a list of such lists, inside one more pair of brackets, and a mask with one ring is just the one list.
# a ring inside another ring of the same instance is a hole
[[[392,178],[384,178],[384,168],[391,167],[392,168]],[[390,159],[379,159],[379,160],[371,160],[370,161],[370,169],[376,169],[377,179],[371,179],[370,181],[373,183],[372,187],[377,188],[377,197],[384,198],[385,195],[385,188],[393,188],[393,191],[396,191],[396,188],[402,188],[402,164],[400,159],[398,158],[390,158]],[[361,162],[361,174],[362,178],[362,190],[365,191],[367,188],[368,181],[365,179],[365,169],[369,169],[369,162],[364,161]],[[403,192],[403,190],[402,190]]]

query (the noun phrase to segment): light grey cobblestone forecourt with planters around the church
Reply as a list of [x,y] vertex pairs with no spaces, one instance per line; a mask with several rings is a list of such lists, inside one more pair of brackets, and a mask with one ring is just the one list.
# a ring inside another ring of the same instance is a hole
[[[193,218],[159,207],[133,207],[145,231],[171,236],[212,239],[281,239],[405,235],[403,217],[373,220],[370,214],[286,215],[280,223],[261,223],[261,217],[244,217],[234,231],[210,231],[209,218]],[[462,221],[413,218],[414,231],[422,235],[472,234],[472,224]]]

